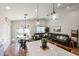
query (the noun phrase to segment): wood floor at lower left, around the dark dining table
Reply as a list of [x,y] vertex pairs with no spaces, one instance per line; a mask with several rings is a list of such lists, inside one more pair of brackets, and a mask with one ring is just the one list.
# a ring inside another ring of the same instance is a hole
[[27,51],[19,48],[18,45],[16,45],[16,43],[13,42],[4,52],[4,56],[26,56]]

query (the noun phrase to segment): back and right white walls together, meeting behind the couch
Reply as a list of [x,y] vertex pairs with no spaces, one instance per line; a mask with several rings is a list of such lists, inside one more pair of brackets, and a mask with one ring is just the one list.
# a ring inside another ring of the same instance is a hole
[[[71,9],[71,8],[70,8]],[[63,34],[68,34],[71,36],[71,29],[79,29],[79,9],[74,8],[71,10],[63,10],[58,13],[57,20],[40,21],[41,26],[49,26],[50,32],[53,32],[53,26],[61,26],[61,32]],[[21,27],[24,24],[23,21],[13,21],[12,22],[12,38],[16,38],[16,28]],[[31,28],[31,34],[36,32],[35,21],[27,21]]]

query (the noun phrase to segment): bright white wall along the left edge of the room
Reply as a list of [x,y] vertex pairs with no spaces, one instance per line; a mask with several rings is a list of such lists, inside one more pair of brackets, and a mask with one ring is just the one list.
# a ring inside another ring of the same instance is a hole
[[0,17],[0,41],[4,45],[4,50],[6,50],[7,47],[9,46],[10,39],[11,39],[10,21],[8,19],[5,20],[5,17]]

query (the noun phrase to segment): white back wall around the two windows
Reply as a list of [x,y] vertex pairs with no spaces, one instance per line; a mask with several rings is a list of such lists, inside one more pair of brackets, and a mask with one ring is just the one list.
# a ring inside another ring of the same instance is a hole
[[[21,26],[24,24],[24,21],[12,21],[11,22],[11,38],[12,39],[16,39],[16,29],[17,28],[21,28]],[[31,32],[31,35],[33,35],[35,32],[36,32],[36,20],[27,20],[26,21],[26,25],[29,25],[29,28],[30,28],[30,32]],[[47,26],[48,25],[48,21],[47,20],[40,20],[40,26]]]

